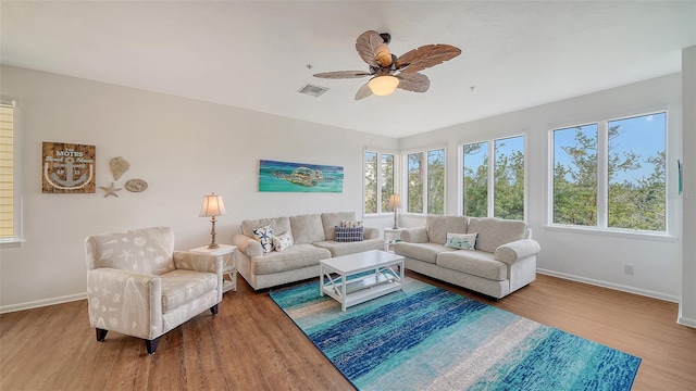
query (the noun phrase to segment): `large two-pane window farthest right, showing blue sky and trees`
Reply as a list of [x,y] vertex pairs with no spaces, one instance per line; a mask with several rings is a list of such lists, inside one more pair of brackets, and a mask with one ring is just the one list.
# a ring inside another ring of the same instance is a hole
[[552,223],[666,231],[667,113],[552,131]]

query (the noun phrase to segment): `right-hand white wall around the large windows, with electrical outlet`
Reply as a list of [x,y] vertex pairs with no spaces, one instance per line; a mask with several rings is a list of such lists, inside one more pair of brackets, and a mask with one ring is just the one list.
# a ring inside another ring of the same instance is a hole
[[[478,90],[478,89],[477,89]],[[641,114],[668,109],[669,137],[669,231],[671,238],[609,236],[593,231],[547,227],[548,130],[607,116]],[[467,110],[462,108],[461,110]],[[467,142],[526,135],[527,222],[542,245],[540,272],[570,279],[612,287],[670,301],[679,301],[682,286],[681,199],[676,194],[675,167],[681,153],[681,74],[525,109],[490,118],[450,126],[401,140],[401,150],[422,146],[447,146],[447,214],[458,214],[458,147]],[[422,217],[403,216],[406,224],[422,224]],[[635,266],[633,276],[624,265]]]

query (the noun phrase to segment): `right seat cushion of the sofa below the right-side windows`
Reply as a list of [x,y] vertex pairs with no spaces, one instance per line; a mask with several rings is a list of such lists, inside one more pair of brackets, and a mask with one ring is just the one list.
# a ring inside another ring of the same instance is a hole
[[437,266],[462,272],[490,280],[502,281],[508,278],[508,266],[493,258],[492,253],[481,251],[455,251],[440,253]]

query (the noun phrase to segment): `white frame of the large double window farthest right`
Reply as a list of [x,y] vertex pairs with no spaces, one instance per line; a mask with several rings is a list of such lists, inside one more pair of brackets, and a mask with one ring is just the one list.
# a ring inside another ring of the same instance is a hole
[[[664,113],[664,230],[646,230],[636,228],[619,228],[609,226],[609,123],[614,121],[630,119],[635,117],[649,116]],[[552,124],[547,127],[547,169],[546,169],[546,216],[545,229],[556,231],[572,231],[577,234],[599,232],[606,236],[620,238],[643,237],[657,241],[673,241],[676,237],[673,235],[674,227],[670,224],[672,210],[676,207],[674,200],[670,199],[670,186],[672,185],[672,174],[670,167],[670,159],[672,156],[670,148],[670,116],[669,108],[659,106],[651,109],[643,109],[636,111],[626,111],[619,114],[593,116],[592,119],[583,119],[562,124]],[[577,126],[597,125],[597,225],[584,226],[573,224],[560,224],[554,222],[554,164],[555,164],[555,143],[554,131],[574,128]]]

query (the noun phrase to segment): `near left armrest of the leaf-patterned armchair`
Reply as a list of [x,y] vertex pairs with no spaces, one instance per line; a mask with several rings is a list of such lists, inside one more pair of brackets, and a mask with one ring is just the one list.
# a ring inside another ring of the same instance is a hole
[[160,276],[111,267],[88,270],[87,301],[91,327],[148,340],[162,332]]

